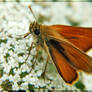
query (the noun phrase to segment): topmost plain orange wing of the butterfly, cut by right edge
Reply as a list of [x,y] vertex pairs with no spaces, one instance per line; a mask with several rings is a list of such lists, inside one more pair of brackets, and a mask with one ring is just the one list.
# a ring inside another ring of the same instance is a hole
[[92,28],[64,25],[53,25],[50,27],[83,51],[87,51],[92,47]]

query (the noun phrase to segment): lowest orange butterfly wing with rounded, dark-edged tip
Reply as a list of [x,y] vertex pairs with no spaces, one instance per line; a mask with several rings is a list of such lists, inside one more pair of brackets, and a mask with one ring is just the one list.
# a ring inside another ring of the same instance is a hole
[[56,65],[56,68],[66,83],[72,84],[78,78],[76,70],[71,67],[66,58],[53,46],[49,46],[51,57]]

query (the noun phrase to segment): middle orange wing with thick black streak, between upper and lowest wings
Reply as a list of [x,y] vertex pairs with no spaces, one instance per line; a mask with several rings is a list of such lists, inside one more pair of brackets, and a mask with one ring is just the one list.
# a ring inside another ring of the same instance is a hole
[[[52,53],[52,54],[55,54],[54,57],[64,58],[66,62],[76,70],[82,70],[86,73],[92,73],[92,58],[86,55],[83,51],[76,48],[71,43],[68,43],[63,40],[58,41],[58,40],[50,39],[49,43],[51,46],[54,47],[54,49],[57,50],[57,53],[55,52]],[[50,49],[52,49],[52,47],[50,47]],[[64,63],[65,62],[64,59],[63,60],[59,59],[59,61],[56,60],[57,65],[62,67],[61,62],[63,61]]]

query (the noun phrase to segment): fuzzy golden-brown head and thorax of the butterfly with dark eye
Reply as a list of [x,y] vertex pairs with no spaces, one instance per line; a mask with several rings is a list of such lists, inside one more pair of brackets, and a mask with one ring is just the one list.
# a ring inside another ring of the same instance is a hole
[[51,34],[52,30],[47,25],[42,25],[38,24],[37,22],[33,22],[30,24],[29,31],[33,35],[33,39],[37,40],[36,42],[43,44],[44,41],[49,40],[48,35]]

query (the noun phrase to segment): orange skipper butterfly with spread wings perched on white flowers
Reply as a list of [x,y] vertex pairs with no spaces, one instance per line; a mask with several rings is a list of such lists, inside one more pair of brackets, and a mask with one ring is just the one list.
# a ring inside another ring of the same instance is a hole
[[37,38],[37,44],[47,51],[66,83],[75,82],[79,70],[92,73],[92,58],[85,54],[92,47],[92,28],[48,26],[33,22],[25,37],[30,33]]

